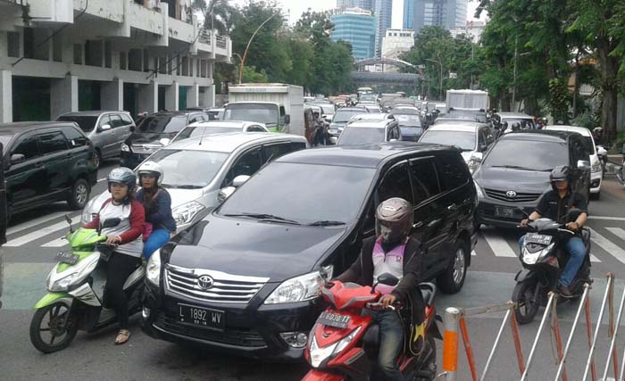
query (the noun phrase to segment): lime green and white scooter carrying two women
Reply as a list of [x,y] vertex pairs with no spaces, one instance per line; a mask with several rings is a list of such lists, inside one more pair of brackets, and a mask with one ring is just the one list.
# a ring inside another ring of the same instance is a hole
[[[104,307],[106,261],[115,246],[105,244],[103,228],[113,228],[120,219],[106,219],[96,229],[71,228],[66,238],[71,250],[56,254],[58,263],[47,277],[48,294],[35,304],[30,322],[30,342],[38,351],[51,353],[67,348],[79,329],[94,332],[117,321],[115,312]],[[129,314],[141,311],[143,279],[140,265],[123,288],[129,296]]]

